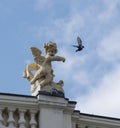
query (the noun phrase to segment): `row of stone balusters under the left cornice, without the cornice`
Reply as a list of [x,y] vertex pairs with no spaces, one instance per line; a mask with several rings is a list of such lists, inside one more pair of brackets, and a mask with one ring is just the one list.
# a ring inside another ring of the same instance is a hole
[[0,109],[0,126],[10,128],[37,128],[36,112],[19,108]]

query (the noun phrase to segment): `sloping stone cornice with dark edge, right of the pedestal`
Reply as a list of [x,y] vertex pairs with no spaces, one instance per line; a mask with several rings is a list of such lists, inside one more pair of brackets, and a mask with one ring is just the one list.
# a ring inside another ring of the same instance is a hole
[[81,113],[80,111],[75,110],[72,114],[72,119],[74,122],[78,124],[87,124],[87,125],[96,125],[96,126],[106,126],[106,127],[120,127],[120,119],[112,118],[112,117],[105,117],[99,115],[92,115]]

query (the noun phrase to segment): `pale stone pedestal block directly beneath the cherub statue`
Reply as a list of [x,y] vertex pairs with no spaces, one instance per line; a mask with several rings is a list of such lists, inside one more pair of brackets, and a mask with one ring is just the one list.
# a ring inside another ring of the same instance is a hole
[[55,96],[38,95],[40,128],[72,128],[71,115],[76,102]]

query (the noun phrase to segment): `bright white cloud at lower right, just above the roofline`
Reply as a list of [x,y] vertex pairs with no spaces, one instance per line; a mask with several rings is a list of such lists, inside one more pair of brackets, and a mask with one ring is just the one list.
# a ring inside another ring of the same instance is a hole
[[120,117],[120,65],[109,74],[105,74],[98,88],[90,95],[77,97],[77,109],[98,115]]

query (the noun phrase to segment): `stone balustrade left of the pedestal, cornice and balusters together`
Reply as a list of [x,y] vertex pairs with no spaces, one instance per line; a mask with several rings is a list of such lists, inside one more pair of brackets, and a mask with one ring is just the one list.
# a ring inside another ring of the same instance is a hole
[[0,128],[38,128],[36,97],[0,96]]

